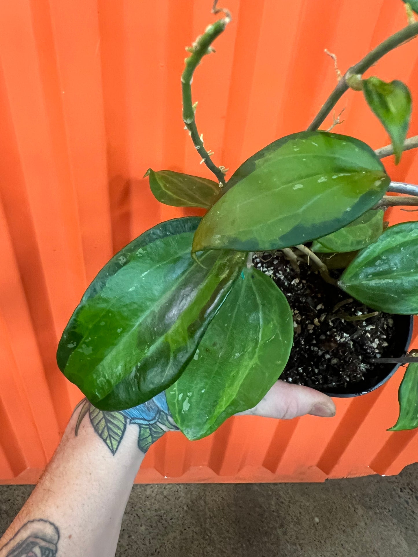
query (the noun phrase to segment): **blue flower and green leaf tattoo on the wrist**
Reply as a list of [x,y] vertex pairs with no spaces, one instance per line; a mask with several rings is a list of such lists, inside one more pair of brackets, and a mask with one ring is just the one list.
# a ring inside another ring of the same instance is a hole
[[148,400],[148,402],[139,404],[139,406],[129,410],[105,412],[95,408],[87,399],[81,400],[74,412],[79,408],[80,412],[75,426],[75,434],[77,435],[79,432],[82,420],[89,414],[94,431],[106,444],[112,455],[118,450],[127,424],[137,424],[139,426],[138,448],[144,453],[166,431],[178,430],[168,409],[164,392],[157,394],[156,397]]

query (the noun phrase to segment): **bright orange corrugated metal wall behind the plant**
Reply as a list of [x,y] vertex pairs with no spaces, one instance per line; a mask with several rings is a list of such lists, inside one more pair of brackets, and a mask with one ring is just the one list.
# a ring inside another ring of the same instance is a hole
[[[406,25],[400,0],[225,0],[233,21],[193,83],[198,128],[231,172],[307,127],[341,70]],[[181,121],[184,46],[211,0],[0,0],[0,481],[30,482],[80,392],[56,367],[57,340],[86,285],[119,248],[168,218],[148,167],[207,175]],[[417,42],[373,68],[418,96]],[[374,148],[387,136],[362,95],[336,131]],[[327,121],[328,127],[328,121]],[[410,133],[418,133],[414,111]],[[418,154],[392,179],[416,183]],[[392,212],[392,222],[416,213]],[[241,417],[194,443],[169,433],[138,481],[323,481],[393,474],[418,460],[414,431],[388,433],[401,373],[333,419]]]

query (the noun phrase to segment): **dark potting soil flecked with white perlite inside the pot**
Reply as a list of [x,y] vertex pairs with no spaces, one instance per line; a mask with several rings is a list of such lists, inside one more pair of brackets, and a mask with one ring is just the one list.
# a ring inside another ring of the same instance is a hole
[[299,262],[298,274],[278,251],[257,253],[254,266],[273,278],[293,311],[293,348],[280,379],[331,394],[357,394],[374,387],[395,365],[372,363],[372,358],[405,354],[409,316],[378,312],[347,321],[344,315],[373,310],[349,301],[346,292],[327,284],[308,263]]

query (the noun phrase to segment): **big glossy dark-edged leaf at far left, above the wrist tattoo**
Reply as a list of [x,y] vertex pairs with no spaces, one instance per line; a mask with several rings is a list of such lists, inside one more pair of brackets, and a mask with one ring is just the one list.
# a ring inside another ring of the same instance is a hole
[[174,383],[241,271],[242,253],[191,259],[198,221],[174,219],[128,244],[72,315],[57,361],[96,407],[130,408]]

